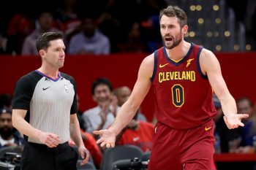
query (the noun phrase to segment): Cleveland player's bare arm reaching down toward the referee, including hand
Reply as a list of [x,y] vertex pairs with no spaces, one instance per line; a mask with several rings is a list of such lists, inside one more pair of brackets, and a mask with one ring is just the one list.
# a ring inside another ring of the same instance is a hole
[[132,120],[132,117],[134,117],[135,112],[140,107],[140,104],[151,87],[150,78],[153,74],[153,69],[154,54],[151,54],[144,58],[140,64],[138,79],[135,82],[132,94],[119,110],[113,125],[108,130],[94,131],[94,134],[101,135],[97,141],[98,144],[101,143],[101,147],[105,146],[105,144],[107,147],[115,146],[116,136]]

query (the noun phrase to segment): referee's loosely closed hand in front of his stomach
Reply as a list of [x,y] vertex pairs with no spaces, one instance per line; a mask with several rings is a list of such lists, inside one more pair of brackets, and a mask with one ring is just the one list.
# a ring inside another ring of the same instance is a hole
[[39,140],[48,147],[57,147],[59,142],[61,142],[59,136],[56,134],[45,132],[42,132],[42,134],[39,135]]

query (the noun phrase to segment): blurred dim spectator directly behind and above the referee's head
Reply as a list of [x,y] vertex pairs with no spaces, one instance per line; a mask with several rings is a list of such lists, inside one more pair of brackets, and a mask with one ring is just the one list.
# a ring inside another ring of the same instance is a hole
[[39,35],[48,31],[51,31],[51,32],[59,31],[59,29],[53,27],[54,20],[51,12],[48,12],[48,11],[40,12],[37,22],[38,22],[37,28],[31,34],[29,34],[29,36],[26,36],[26,39],[23,43],[23,47],[21,51],[22,55],[38,55],[36,42]]

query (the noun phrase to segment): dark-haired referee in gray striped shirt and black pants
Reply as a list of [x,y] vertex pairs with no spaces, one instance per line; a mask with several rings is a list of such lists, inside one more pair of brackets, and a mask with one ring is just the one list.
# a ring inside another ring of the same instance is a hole
[[[46,32],[37,39],[42,66],[24,75],[15,85],[12,123],[24,134],[21,170],[76,170],[78,154],[89,160],[76,116],[75,80],[59,72],[64,66],[63,35]],[[86,153],[86,155],[85,155]]]

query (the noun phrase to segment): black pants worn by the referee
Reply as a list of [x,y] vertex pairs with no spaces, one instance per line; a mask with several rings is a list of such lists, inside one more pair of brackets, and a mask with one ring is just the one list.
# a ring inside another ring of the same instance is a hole
[[25,142],[21,170],[77,170],[78,152],[67,142],[50,148],[45,144]]

